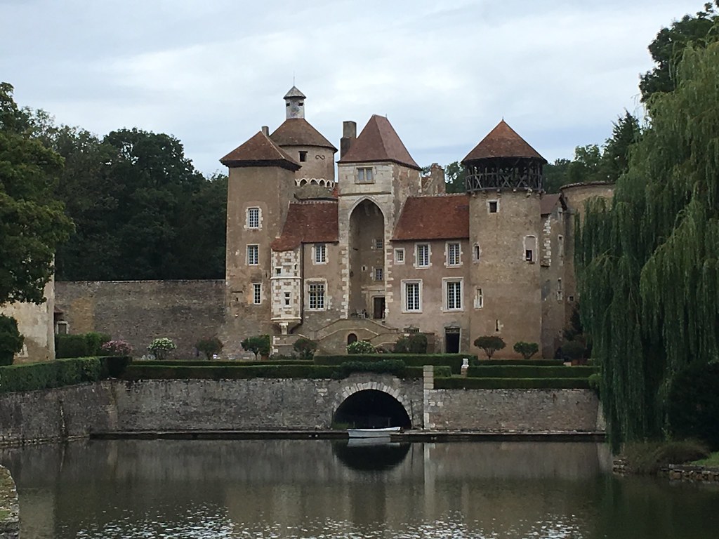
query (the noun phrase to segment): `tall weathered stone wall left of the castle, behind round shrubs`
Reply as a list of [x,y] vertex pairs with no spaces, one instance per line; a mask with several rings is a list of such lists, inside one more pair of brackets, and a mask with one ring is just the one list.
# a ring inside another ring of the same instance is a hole
[[70,333],[109,333],[137,356],[152,339],[170,337],[175,355],[188,358],[198,339],[221,331],[224,280],[55,282],[55,304]]

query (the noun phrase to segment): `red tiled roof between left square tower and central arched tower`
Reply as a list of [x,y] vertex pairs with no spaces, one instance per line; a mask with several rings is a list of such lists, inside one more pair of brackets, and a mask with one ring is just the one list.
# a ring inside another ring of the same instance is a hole
[[336,201],[293,202],[287,212],[282,235],[272,243],[273,251],[290,251],[303,243],[339,240]]

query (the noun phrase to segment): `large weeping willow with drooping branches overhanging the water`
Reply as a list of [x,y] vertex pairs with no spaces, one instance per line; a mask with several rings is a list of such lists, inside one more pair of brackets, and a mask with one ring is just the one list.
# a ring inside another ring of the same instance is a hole
[[687,47],[674,76],[613,200],[590,201],[577,234],[614,448],[662,436],[674,374],[719,356],[719,43]]

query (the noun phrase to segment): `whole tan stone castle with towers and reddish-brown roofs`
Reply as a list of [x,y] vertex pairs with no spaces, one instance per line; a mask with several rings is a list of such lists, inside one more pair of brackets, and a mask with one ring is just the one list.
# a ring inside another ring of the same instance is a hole
[[298,336],[343,351],[357,339],[388,346],[430,336],[434,351],[474,351],[501,336],[552,357],[576,292],[577,208],[608,185],[544,193],[535,149],[500,121],[464,157],[466,193],[424,175],[390,121],[372,116],[334,147],[285,95],[286,119],[222,157],[229,167],[222,336]]

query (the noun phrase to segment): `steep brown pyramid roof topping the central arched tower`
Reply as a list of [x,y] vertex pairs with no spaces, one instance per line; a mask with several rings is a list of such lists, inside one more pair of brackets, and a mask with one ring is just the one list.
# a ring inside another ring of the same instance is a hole
[[362,163],[362,162],[393,161],[400,165],[406,165],[417,170],[417,165],[407,148],[398,137],[390,121],[385,116],[372,114],[365,129],[352,142],[349,152],[344,155],[340,163]]

